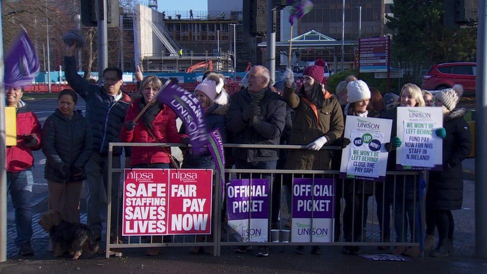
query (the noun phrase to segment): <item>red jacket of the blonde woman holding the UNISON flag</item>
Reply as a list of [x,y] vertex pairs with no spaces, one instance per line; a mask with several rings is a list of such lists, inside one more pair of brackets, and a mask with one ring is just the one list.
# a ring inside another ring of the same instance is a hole
[[[135,100],[129,107],[125,122],[133,121],[139,113],[139,100]],[[137,120],[134,130],[127,130],[125,126],[120,131],[120,141],[127,143],[181,143],[186,135],[179,134],[176,128],[176,118],[178,116],[166,104],[163,109],[154,117],[152,121],[152,134],[157,138],[155,140],[148,132],[149,128],[144,125],[142,118]],[[169,147],[132,147],[130,165],[169,163],[169,156],[165,152],[171,153]]]

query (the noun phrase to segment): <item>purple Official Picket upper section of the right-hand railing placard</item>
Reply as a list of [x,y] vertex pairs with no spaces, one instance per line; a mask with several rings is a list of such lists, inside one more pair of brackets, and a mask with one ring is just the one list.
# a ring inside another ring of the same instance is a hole
[[333,187],[333,179],[294,178],[292,218],[333,218]]

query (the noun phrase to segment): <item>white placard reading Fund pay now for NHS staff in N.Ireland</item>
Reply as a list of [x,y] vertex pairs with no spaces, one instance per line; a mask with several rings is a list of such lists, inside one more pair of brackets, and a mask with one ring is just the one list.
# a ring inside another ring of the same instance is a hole
[[441,170],[443,140],[435,133],[441,127],[441,107],[398,107],[397,136],[402,146],[397,149],[396,168]]

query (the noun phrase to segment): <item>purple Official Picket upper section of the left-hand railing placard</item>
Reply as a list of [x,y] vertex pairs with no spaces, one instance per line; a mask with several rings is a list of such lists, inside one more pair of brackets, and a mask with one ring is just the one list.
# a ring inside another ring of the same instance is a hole
[[227,184],[228,219],[248,219],[250,205],[251,219],[268,219],[269,179],[235,179]]

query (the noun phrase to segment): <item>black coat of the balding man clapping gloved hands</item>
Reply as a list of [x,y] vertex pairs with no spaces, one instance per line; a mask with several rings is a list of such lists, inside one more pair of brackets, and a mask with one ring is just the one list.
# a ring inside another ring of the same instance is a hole
[[[285,126],[286,103],[282,98],[266,88],[264,97],[258,104],[260,107],[258,126],[250,125],[242,119],[242,112],[252,98],[247,89],[235,93],[230,103],[227,117],[227,130],[231,131],[236,144],[278,145]],[[235,148],[233,150],[236,159],[252,162],[276,161],[278,159],[276,149],[251,149]]]

